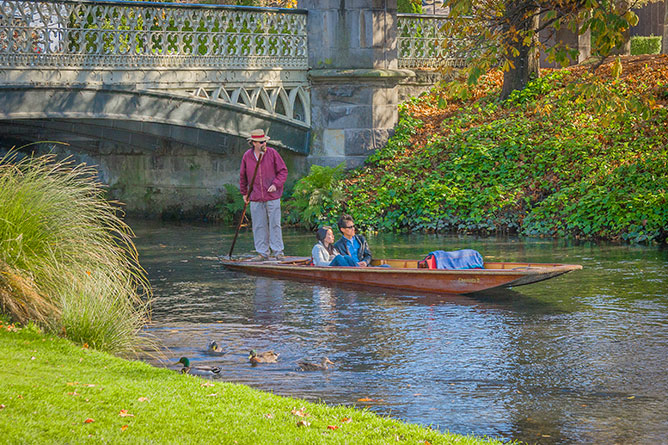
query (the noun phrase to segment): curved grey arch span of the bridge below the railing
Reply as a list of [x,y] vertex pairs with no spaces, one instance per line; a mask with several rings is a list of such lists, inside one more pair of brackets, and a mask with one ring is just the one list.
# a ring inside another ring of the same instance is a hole
[[[270,101],[266,92],[264,100]],[[133,134],[142,134],[216,152],[225,151],[229,137],[244,139],[253,128],[270,128],[275,146],[305,155],[310,131],[306,124],[267,110],[250,111],[231,101],[197,95],[88,85],[0,87],[0,121],[10,125],[13,121],[33,121],[31,128],[39,130],[53,128],[50,120],[97,120],[100,127],[129,132],[125,140],[130,144]],[[115,122],[134,124],[119,128]],[[76,134],[78,129],[72,131]]]

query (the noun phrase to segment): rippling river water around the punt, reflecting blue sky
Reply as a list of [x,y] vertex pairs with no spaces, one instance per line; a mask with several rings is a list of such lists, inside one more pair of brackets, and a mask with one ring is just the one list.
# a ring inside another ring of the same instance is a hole
[[[473,296],[329,287],[230,272],[233,230],[130,221],[155,293],[148,329],[220,378],[280,395],[368,407],[460,434],[529,443],[668,443],[668,249],[512,237],[369,236],[376,257],[471,248],[488,261],[581,271]],[[310,233],[284,230],[308,256]],[[235,253],[248,253],[242,232]],[[226,351],[206,352],[209,340]],[[253,367],[248,351],[277,364]],[[327,356],[326,372],[297,371]],[[176,369],[176,367],[174,367]]]

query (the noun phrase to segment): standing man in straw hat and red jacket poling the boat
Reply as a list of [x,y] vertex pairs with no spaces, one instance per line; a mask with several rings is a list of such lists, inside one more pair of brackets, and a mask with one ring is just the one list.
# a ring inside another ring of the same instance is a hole
[[[239,189],[244,202],[250,201],[253,239],[258,255],[254,261],[268,260],[270,249],[276,259],[283,259],[283,233],[281,231],[281,195],[288,178],[288,168],[276,150],[267,146],[269,137],[264,130],[253,130],[248,138],[251,148],[241,159]],[[250,182],[258,162],[255,183],[248,196]]]

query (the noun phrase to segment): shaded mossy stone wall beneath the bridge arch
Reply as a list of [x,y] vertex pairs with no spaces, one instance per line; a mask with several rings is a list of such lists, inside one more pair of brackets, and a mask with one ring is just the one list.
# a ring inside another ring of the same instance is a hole
[[[129,215],[203,219],[215,213],[216,204],[223,201],[225,184],[238,190],[241,157],[248,145],[240,138],[228,139],[225,152],[167,140],[157,141],[152,150],[96,141],[30,148],[38,154],[52,152],[61,159],[71,156],[77,163],[95,166],[100,181],[109,187],[109,197],[123,203]],[[288,183],[306,173],[305,156],[278,151],[288,167]]]

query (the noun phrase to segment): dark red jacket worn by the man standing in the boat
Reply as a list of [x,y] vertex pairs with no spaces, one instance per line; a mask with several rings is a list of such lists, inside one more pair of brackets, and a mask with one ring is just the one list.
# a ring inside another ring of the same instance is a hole
[[[241,158],[239,189],[244,196],[248,193],[248,186],[253,179],[256,165],[257,160],[251,148]],[[262,162],[260,162],[260,167],[257,170],[250,200],[264,202],[279,199],[283,195],[283,184],[285,184],[286,179],[288,179],[288,168],[285,166],[283,158],[281,158],[281,155],[276,150],[267,147],[267,151],[262,156]],[[267,189],[272,184],[276,186],[276,191],[269,193]]]

